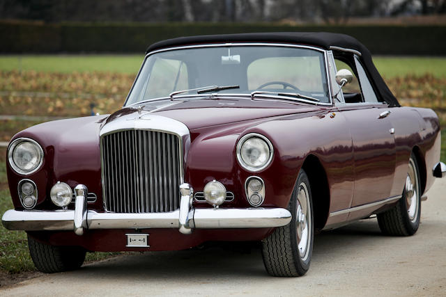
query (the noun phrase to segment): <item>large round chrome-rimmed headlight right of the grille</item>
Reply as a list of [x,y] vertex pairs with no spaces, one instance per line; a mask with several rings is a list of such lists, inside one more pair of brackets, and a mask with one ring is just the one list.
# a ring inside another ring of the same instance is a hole
[[272,161],[272,154],[271,142],[261,134],[246,134],[238,141],[237,160],[248,171],[265,169]]

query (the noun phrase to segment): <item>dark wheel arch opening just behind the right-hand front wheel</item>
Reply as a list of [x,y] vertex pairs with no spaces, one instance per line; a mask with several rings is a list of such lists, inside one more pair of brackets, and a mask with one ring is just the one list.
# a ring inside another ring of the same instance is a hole
[[314,154],[309,154],[305,158],[302,169],[307,173],[312,190],[314,230],[318,232],[327,223],[330,209],[330,189],[327,174],[321,161]]

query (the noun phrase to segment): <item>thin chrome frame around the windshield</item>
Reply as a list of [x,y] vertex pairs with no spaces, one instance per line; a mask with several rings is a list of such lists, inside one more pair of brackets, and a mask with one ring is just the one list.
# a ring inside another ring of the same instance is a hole
[[[137,81],[137,79],[139,78],[139,75],[141,74],[141,71],[143,69],[144,63],[146,63],[146,59],[153,55],[153,54],[157,54],[163,51],[174,51],[177,49],[197,49],[197,48],[203,48],[203,47],[249,47],[249,46],[268,46],[268,47],[294,47],[294,48],[300,48],[300,49],[313,49],[316,51],[320,51],[323,53],[324,56],[324,67],[325,67],[325,79],[326,79],[326,83],[327,83],[327,88],[328,88],[328,99],[330,100],[330,102],[314,102],[317,103],[317,105],[324,105],[324,106],[333,106],[333,99],[332,99],[332,86],[331,86],[331,79],[330,79],[330,70],[328,69],[328,55],[327,55],[327,50],[322,49],[321,47],[315,47],[315,46],[311,46],[311,45],[294,45],[291,43],[276,43],[276,42],[220,42],[220,43],[213,43],[213,44],[202,44],[202,45],[181,45],[178,47],[167,47],[165,49],[157,49],[155,51],[151,51],[149,53],[146,54],[146,56],[144,56],[144,60],[141,63],[141,67],[139,68],[138,74],[135,77],[133,83],[132,83],[132,87],[130,88],[130,91],[127,95],[127,97],[125,97],[125,102],[123,104],[123,108],[125,107],[130,107],[130,106],[134,106],[137,104],[143,104],[143,103],[147,103],[147,102],[154,102],[154,101],[159,101],[162,99],[167,99],[170,98],[169,96],[166,97],[159,97],[159,98],[152,98],[152,99],[147,99],[147,100],[142,100],[139,102],[134,102],[132,104],[127,104],[128,99],[130,97],[130,94],[132,93],[132,90],[134,88],[134,85]],[[231,95],[231,96],[243,96],[245,97],[245,95],[249,95],[248,93],[239,93],[239,94],[228,94],[228,93],[222,93],[222,94],[218,94],[220,95]],[[197,94],[197,95],[185,95],[185,96],[178,96],[176,98],[181,98],[181,97],[208,97],[209,95],[206,96],[201,96],[201,94]],[[298,100],[295,100],[296,102],[298,102]]]

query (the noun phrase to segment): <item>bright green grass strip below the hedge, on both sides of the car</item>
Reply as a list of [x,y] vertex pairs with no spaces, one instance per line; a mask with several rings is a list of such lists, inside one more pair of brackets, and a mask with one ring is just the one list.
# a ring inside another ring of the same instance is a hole
[[[45,72],[123,72],[136,73],[144,54],[135,55],[22,55],[0,56],[0,70],[36,70]],[[429,73],[446,77],[446,58],[375,56],[374,63],[386,77]]]

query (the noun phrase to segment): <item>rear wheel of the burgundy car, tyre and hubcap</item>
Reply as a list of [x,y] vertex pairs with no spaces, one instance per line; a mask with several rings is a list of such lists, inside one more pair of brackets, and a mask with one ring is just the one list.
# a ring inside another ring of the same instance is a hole
[[417,232],[420,226],[421,187],[420,171],[417,159],[410,155],[406,184],[403,195],[397,205],[382,214],[378,214],[378,224],[381,232],[394,236],[410,236]]

